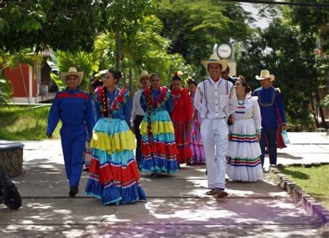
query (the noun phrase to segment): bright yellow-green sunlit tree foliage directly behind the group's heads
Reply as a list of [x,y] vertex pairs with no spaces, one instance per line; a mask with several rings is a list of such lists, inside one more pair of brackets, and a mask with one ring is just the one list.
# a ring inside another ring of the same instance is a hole
[[[180,70],[192,74],[193,70],[180,54],[168,54],[170,41],[160,35],[163,25],[155,16],[144,17],[135,35],[123,35],[121,44],[122,71],[133,81],[141,70],[158,72],[163,83],[169,85],[171,74]],[[115,65],[115,34],[99,35],[95,51],[100,55],[100,68]],[[137,82],[134,81],[134,86]],[[129,85],[130,89],[133,84]]]

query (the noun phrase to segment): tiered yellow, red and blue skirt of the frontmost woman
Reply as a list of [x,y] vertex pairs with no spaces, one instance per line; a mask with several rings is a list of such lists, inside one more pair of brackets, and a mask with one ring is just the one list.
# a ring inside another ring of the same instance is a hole
[[134,158],[135,136],[125,120],[101,118],[94,127],[85,193],[103,205],[146,200]]

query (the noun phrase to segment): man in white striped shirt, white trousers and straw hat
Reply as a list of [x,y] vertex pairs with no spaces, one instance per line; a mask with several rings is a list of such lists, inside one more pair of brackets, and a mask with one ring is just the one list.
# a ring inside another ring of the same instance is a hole
[[228,196],[225,190],[226,154],[228,148],[227,118],[237,107],[235,88],[230,81],[221,78],[226,70],[227,61],[218,56],[210,56],[203,61],[209,78],[202,81],[196,89],[194,106],[200,112],[201,138],[205,150],[205,162],[208,172],[208,188],[206,194],[217,198]]

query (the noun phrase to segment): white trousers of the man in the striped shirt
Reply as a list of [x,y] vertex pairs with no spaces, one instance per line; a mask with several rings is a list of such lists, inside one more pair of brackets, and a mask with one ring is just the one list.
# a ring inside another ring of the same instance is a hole
[[225,118],[204,119],[201,138],[205,150],[205,163],[209,189],[225,189],[228,125]]

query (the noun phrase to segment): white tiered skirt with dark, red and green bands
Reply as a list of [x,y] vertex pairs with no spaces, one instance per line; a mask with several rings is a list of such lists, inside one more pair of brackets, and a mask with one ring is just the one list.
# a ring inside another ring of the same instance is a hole
[[253,118],[235,120],[230,126],[226,173],[230,180],[255,182],[262,177],[260,144],[256,138]]

